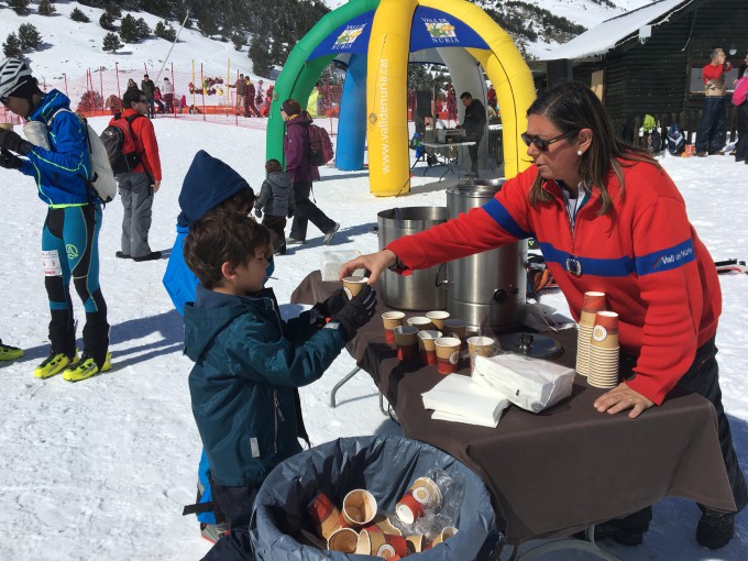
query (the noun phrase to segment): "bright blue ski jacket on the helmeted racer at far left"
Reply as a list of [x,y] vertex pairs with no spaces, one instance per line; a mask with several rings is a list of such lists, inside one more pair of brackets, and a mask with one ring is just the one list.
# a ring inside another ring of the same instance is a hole
[[[55,117],[59,109],[68,111],[61,111]],[[70,100],[53,89],[29,116],[30,121],[46,125],[52,150],[34,146],[26,154],[29,160],[21,165],[21,172],[36,180],[38,198],[50,207],[90,202],[87,179],[91,164],[87,131],[69,109]]]

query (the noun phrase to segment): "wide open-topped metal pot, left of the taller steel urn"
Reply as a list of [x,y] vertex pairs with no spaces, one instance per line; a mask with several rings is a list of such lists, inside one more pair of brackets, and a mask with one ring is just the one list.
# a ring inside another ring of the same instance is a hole
[[[380,249],[403,235],[428,230],[446,222],[447,207],[405,207],[377,215]],[[440,283],[441,267],[397,275],[385,271],[380,276],[380,297],[391,308],[400,310],[439,310],[447,307],[447,286]]]

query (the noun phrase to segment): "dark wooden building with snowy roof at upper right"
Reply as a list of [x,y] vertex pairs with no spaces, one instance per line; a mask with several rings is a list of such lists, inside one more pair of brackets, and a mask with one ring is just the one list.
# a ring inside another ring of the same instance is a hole
[[735,138],[732,85],[748,55],[748,0],[660,0],[607,20],[546,57],[549,84],[590,84],[634,140],[646,113],[667,128],[676,121],[695,133],[704,100],[702,69],[721,47],[727,75],[727,132]]

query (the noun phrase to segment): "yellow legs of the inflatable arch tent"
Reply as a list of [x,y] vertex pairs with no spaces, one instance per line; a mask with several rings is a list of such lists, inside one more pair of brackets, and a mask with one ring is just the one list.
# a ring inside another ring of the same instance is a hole
[[[382,0],[374,14],[366,82],[369,170],[371,191],[388,197],[410,189],[407,120],[407,66],[410,26],[418,6],[440,10],[470,25],[490,50],[468,48],[496,88],[502,111],[504,175],[530,165],[519,135],[535,85],[512,37],[481,8],[465,0]],[[520,147],[521,146],[521,147]]]

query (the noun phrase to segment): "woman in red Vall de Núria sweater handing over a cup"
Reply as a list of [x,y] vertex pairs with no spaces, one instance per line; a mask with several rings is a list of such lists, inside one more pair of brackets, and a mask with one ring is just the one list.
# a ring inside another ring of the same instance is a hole
[[[715,346],[722,295],[714,261],[689,222],[668,174],[623,143],[597,97],[583,84],[547,90],[529,108],[522,140],[535,165],[494,199],[459,218],[344,264],[376,282],[387,267],[408,274],[536,238],[579,321],[584,293],[606,293],[618,312],[622,354],[634,375],[600,396],[595,408],[636,419],[675,386],[701,394],[717,411],[719,443],[737,510],[748,503],[722,406]],[[734,534],[734,514],[702,508],[698,543],[717,549]],[[651,507],[597,525],[595,535],[641,543]]]

